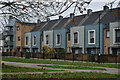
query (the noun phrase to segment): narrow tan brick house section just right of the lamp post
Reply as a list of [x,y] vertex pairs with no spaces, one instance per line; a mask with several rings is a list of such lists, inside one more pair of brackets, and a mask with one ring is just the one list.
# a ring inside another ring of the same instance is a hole
[[110,29],[104,28],[104,54],[110,54]]

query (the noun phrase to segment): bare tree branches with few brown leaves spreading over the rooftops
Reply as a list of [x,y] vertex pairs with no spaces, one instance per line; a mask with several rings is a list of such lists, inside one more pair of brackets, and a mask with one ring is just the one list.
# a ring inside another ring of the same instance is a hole
[[71,7],[74,8],[73,13],[78,9],[82,14],[83,11],[86,11],[86,6],[89,5],[91,1],[92,0],[0,0],[0,24],[6,24],[9,16],[13,16],[22,22],[31,22],[36,18],[44,21],[48,17],[66,12]]

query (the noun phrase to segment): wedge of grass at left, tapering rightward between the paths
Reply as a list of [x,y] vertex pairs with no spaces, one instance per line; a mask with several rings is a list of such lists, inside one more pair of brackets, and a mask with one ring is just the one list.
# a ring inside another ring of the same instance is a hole
[[50,72],[50,71],[57,71],[57,70],[46,70],[42,69],[35,69],[35,68],[27,68],[27,67],[16,67],[16,66],[2,66],[3,73],[10,73],[10,72]]

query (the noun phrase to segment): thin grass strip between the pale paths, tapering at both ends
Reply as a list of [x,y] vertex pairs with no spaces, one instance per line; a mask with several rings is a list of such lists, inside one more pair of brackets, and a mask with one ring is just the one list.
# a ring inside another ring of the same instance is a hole
[[87,66],[60,66],[60,65],[38,65],[38,66],[60,68],[60,69],[106,70],[106,69],[102,69],[102,68],[93,68],[93,67],[87,67]]

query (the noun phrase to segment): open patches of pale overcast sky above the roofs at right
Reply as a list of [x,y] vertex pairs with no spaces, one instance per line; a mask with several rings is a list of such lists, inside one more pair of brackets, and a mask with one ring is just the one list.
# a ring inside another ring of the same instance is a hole
[[[1,1],[1,0],[0,0]],[[21,0],[22,1],[22,0]],[[39,0],[40,1],[40,0]],[[48,0],[52,1],[52,0]],[[60,0],[59,0],[60,1]],[[61,0],[62,1],[62,0]],[[73,0],[74,1],[74,0]],[[87,1],[87,0],[86,0]],[[92,0],[89,6],[87,6],[87,9],[92,9],[93,12],[103,10],[103,6],[109,2],[112,2],[114,0]],[[116,0],[116,2],[113,5],[113,8],[116,8],[120,0]],[[70,12],[73,12],[73,9],[70,8],[68,11],[66,11],[64,14],[62,14],[63,17],[69,17]],[[85,12],[84,12],[85,14]],[[76,13],[76,15],[81,15],[79,12]],[[50,19],[58,19],[58,16],[52,17]],[[1,26],[1,25],[0,25]],[[1,29],[0,29],[1,31]]]

